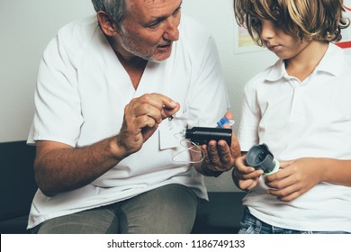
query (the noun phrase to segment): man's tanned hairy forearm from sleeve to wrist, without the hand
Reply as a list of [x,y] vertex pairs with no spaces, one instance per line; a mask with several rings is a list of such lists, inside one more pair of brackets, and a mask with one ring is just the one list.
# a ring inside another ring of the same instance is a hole
[[[113,166],[123,155],[116,155],[115,139],[104,139],[84,148],[56,148],[37,155],[35,178],[42,193],[53,196],[93,182]],[[38,142],[38,146],[48,142]]]

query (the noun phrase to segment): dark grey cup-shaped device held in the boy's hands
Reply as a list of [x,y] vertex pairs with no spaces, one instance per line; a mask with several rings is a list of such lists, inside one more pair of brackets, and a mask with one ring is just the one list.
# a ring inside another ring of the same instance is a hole
[[265,175],[273,174],[279,169],[278,160],[275,159],[265,143],[254,145],[248,149],[246,162],[247,166],[263,170]]

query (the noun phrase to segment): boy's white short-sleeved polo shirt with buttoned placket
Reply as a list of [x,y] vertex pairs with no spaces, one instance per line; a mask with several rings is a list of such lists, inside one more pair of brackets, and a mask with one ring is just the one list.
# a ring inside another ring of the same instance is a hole
[[[253,77],[238,139],[243,151],[266,143],[278,160],[351,159],[350,57],[329,44],[303,82],[287,75],[282,60]],[[351,231],[351,187],[321,183],[293,202],[279,202],[266,189],[261,178],[244,200],[260,220],[287,229]]]

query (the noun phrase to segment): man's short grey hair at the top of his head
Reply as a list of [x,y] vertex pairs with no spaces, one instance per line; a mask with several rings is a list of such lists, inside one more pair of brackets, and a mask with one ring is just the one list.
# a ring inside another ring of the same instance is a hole
[[103,11],[109,14],[118,25],[121,25],[127,13],[126,1],[128,0],[92,0],[96,13]]

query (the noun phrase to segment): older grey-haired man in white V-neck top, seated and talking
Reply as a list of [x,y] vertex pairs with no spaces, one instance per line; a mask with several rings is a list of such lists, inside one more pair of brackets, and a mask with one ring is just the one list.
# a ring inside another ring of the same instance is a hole
[[235,136],[231,149],[211,142],[203,161],[181,143],[229,108],[214,41],[181,20],[181,0],[93,4],[96,16],[58,31],[40,63],[28,228],[188,233],[207,198],[200,173],[227,171],[238,155]]

